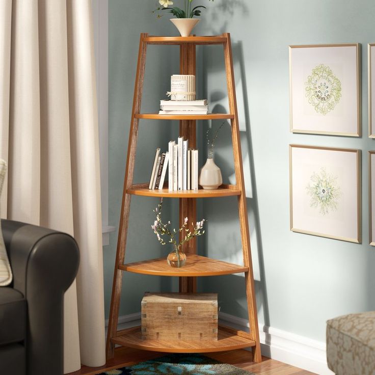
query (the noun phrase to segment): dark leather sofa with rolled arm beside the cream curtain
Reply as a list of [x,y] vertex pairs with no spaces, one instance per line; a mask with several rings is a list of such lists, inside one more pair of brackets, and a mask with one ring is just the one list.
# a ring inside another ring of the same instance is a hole
[[0,374],[63,374],[64,292],[79,263],[71,236],[2,220],[13,283],[0,287]]

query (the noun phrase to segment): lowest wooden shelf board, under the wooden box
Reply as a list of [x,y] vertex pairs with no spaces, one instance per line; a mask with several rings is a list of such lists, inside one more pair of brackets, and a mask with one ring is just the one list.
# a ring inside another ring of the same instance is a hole
[[182,340],[142,340],[141,327],[118,331],[111,339],[115,344],[152,352],[165,353],[209,353],[242,349],[255,346],[255,341],[244,331],[219,326],[217,341],[182,341]]

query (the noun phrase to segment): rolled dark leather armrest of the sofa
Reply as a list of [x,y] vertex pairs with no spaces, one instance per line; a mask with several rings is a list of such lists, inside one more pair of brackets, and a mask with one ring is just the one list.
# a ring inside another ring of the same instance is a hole
[[78,246],[68,234],[30,224],[2,220],[2,229],[13,287],[28,304],[28,374],[62,374],[64,292],[78,270]]

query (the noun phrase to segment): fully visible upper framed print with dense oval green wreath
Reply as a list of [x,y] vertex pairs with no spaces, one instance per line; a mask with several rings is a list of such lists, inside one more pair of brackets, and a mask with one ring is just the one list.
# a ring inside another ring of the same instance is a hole
[[360,45],[289,46],[290,131],[361,136]]

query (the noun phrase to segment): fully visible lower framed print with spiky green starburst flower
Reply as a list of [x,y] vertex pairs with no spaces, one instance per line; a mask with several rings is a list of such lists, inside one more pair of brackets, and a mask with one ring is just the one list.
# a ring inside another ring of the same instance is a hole
[[290,230],[361,243],[361,151],[289,145]]

